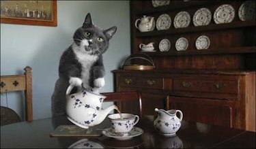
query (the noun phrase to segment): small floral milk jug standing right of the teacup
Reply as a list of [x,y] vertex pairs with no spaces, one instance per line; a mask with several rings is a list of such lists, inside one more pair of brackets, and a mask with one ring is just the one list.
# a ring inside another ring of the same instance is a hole
[[[165,136],[173,136],[180,129],[183,114],[180,110],[158,110],[158,117],[154,120],[154,128],[158,133]],[[180,113],[180,118],[177,118],[177,112]]]

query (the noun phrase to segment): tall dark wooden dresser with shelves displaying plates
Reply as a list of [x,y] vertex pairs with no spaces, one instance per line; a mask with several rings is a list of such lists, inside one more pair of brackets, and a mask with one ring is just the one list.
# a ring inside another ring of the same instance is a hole
[[[151,71],[114,70],[117,91],[141,90],[147,113],[154,108],[179,109],[184,120],[223,125],[255,131],[255,20],[242,21],[238,10],[244,1],[171,1],[153,7],[152,1],[130,2],[131,54],[140,53],[139,44],[154,42],[156,52],[143,52],[154,61]],[[217,7],[231,5],[235,18],[216,24]],[[195,27],[193,14],[207,7],[212,13],[210,24]],[[190,14],[188,27],[175,29],[173,20],[178,12]],[[140,32],[134,26],[138,18],[161,14],[171,17],[167,30]],[[210,48],[197,50],[197,37],[206,35]],[[177,51],[175,42],[188,39],[188,49]],[[160,52],[158,44],[169,39],[171,48]],[[141,63],[141,62],[138,62]],[[166,104],[167,103],[167,104]]]

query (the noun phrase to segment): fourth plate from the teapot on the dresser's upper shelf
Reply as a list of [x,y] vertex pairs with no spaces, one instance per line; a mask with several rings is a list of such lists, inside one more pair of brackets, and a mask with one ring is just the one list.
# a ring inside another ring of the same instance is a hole
[[235,10],[231,5],[220,5],[214,12],[214,22],[216,24],[229,23],[235,18]]

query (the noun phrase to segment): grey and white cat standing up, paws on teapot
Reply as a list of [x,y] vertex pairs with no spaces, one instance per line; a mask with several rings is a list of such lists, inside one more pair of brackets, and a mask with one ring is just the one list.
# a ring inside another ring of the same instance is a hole
[[85,16],[83,26],[76,29],[74,42],[61,55],[59,61],[59,78],[55,82],[55,90],[51,97],[52,116],[66,115],[66,90],[70,84],[99,93],[105,84],[105,69],[102,54],[109,48],[109,40],[117,27],[100,29],[96,27],[91,14]]

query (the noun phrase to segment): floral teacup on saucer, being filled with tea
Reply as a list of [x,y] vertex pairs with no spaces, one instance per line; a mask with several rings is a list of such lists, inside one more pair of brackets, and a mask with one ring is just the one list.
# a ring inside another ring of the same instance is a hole
[[111,114],[108,116],[111,121],[111,127],[115,133],[119,133],[122,136],[127,136],[132,130],[134,125],[139,122],[139,116],[134,114]]

